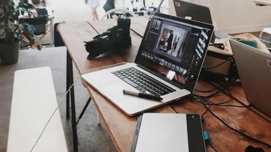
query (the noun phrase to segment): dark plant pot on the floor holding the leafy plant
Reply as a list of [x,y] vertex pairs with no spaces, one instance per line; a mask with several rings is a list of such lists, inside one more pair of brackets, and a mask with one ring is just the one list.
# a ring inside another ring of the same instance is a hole
[[19,57],[20,40],[16,40],[13,43],[0,43],[0,58],[2,64],[10,65],[18,62]]

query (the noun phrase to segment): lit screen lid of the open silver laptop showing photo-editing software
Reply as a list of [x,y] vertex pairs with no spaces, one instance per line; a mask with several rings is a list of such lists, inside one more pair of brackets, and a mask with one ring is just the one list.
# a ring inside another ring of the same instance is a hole
[[213,26],[153,12],[135,63],[170,84],[194,91]]

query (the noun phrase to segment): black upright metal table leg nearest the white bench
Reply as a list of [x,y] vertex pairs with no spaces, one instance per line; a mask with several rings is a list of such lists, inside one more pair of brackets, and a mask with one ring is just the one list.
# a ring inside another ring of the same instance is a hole
[[[68,52],[68,50],[67,50]],[[72,71],[72,59],[67,53],[68,56],[68,76],[69,76],[69,85],[73,84],[73,71]],[[78,143],[77,143],[77,128],[76,128],[76,114],[75,114],[75,99],[74,99],[74,86],[70,88],[70,106],[71,106],[71,126],[72,126],[72,137],[73,137],[73,152],[78,152]]]

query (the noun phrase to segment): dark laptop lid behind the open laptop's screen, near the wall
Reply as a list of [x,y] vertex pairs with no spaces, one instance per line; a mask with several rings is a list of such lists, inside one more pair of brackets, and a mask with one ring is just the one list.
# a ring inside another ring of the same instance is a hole
[[[192,17],[192,20],[213,24],[209,7],[194,4],[183,0],[173,0],[176,15],[185,18]],[[211,43],[215,41],[215,34],[211,38]]]

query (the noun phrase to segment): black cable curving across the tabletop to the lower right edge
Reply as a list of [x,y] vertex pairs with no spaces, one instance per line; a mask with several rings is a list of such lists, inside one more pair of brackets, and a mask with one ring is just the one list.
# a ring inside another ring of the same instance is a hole
[[246,135],[246,134],[244,134],[244,133],[238,131],[237,129],[235,129],[235,128],[229,126],[229,125],[228,125],[226,122],[224,122],[221,118],[219,118],[217,115],[215,115],[215,114],[214,114],[214,113],[213,113],[213,112],[212,112],[212,111],[211,111],[211,110],[203,103],[202,99],[205,100],[204,98],[202,98],[202,97],[199,96],[199,99],[200,99],[201,103],[203,104],[203,106],[208,110],[208,112],[211,113],[211,114],[212,114],[215,118],[217,118],[220,122],[222,122],[225,126],[227,126],[227,127],[230,128],[231,130],[237,132],[237,133],[240,134],[240,135],[243,135],[244,137],[246,137],[246,138],[248,138],[248,139],[250,139],[250,140],[253,140],[253,141],[255,141],[255,142],[261,143],[261,144],[263,144],[263,145],[265,145],[265,146],[271,148],[271,145],[269,145],[269,144],[267,144],[267,143],[265,143],[265,142],[262,142],[262,141],[260,141],[260,140],[258,140],[258,139],[255,139],[255,138],[253,138],[253,137],[250,137],[250,136],[248,136],[248,135]]

